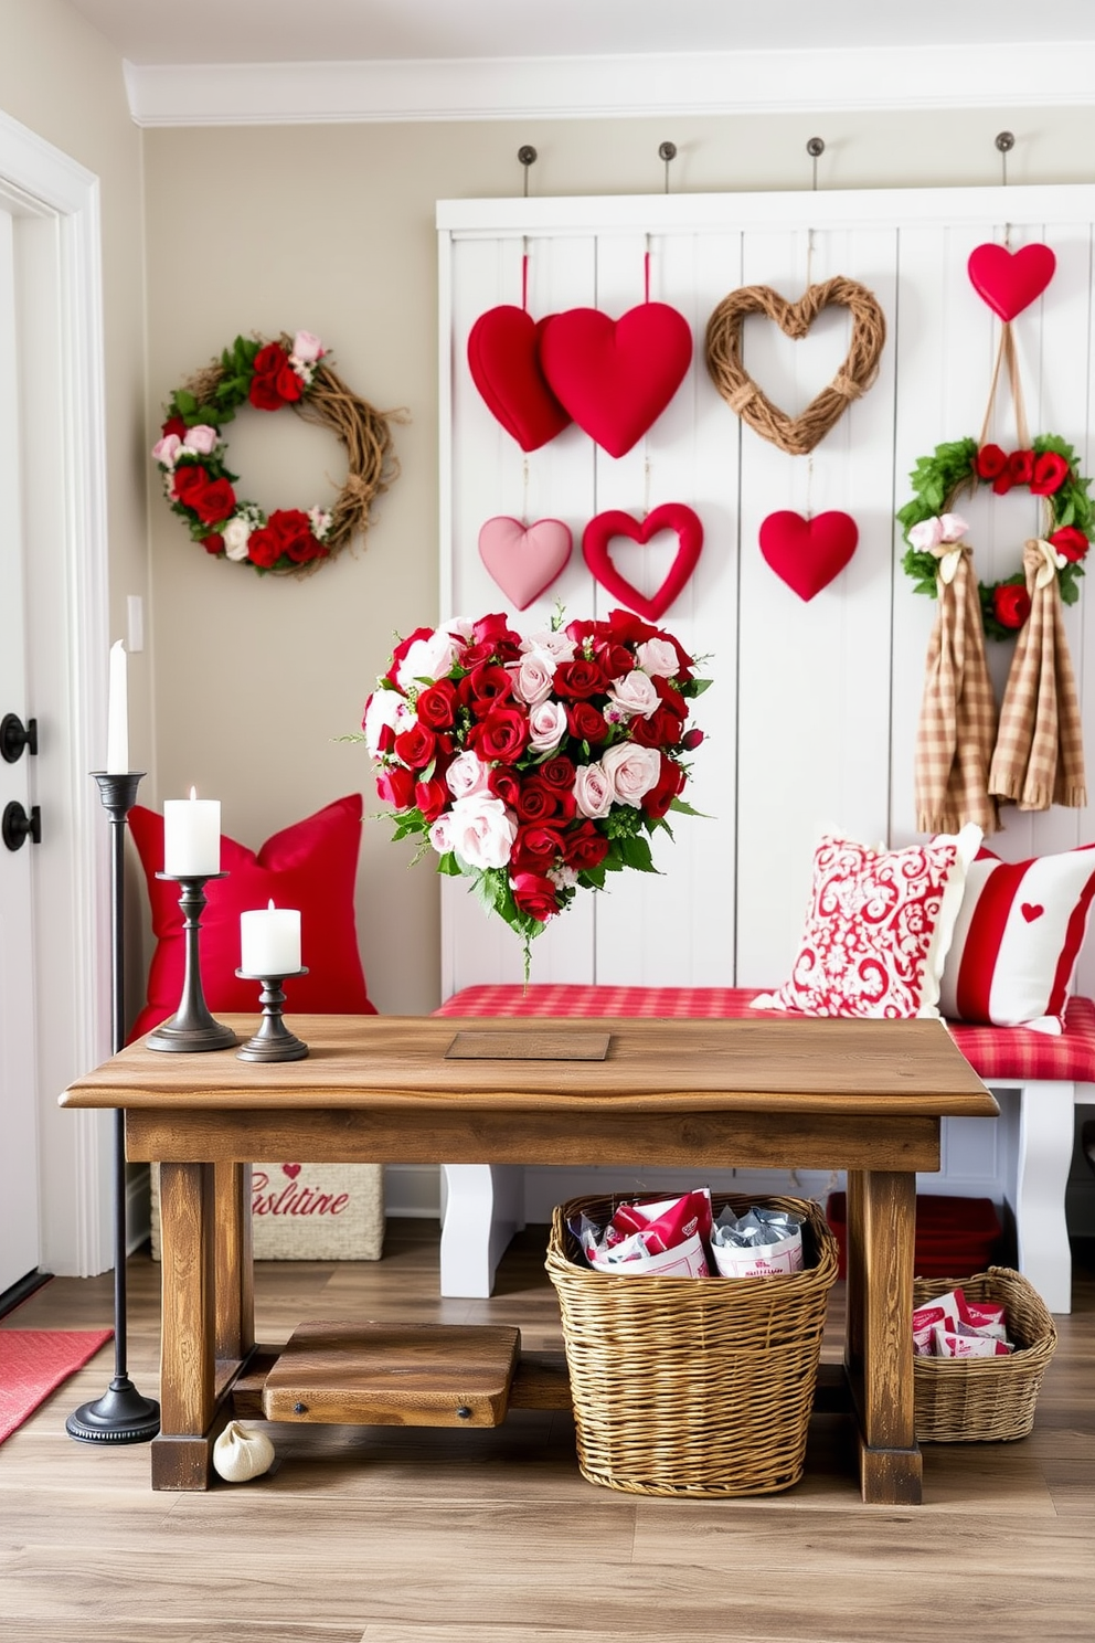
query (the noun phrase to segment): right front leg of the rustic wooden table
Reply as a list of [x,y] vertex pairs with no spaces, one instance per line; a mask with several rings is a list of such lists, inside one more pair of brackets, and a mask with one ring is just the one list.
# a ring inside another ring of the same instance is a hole
[[916,1176],[854,1170],[847,1191],[845,1367],[860,1431],[860,1489],[873,1505],[918,1505],[913,1408]]

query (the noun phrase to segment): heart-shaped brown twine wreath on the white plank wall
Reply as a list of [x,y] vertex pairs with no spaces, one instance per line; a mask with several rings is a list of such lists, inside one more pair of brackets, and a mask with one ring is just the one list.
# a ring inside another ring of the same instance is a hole
[[[765,314],[795,342],[808,334],[822,309],[841,306],[852,315],[852,343],[844,365],[801,416],[773,406],[742,365],[742,327],[749,314]],[[865,394],[878,375],[887,320],[873,292],[837,274],[809,286],[788,302],[772,286],[742,286],[724,297],[708,320],[708,371],[731,411],[790,457],[806,457],[834,427],[852,399]]]

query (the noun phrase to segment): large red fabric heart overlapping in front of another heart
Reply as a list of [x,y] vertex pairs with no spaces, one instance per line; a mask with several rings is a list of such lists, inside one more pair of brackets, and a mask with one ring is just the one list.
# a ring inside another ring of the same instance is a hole
[[557,399],[611,457],[622,457],[657,422],[685,380],[693,335],[667,302],[621,319],[568,309],[543,320],[540,363]]

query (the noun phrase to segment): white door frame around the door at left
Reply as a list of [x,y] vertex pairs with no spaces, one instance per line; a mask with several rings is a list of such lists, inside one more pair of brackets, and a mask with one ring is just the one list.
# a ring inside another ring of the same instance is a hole
[[110,825],[89,774],[102,767],[108,652],[99,177],[0,113],[0,196],[43,276],[26,281],[21,315],[34,360],[25,472],[28,496],[54,499],[26,554],[41,1265],[89,1277],[113,1263],[112,1116],[61,1112],[57,1096],[110,1053]]

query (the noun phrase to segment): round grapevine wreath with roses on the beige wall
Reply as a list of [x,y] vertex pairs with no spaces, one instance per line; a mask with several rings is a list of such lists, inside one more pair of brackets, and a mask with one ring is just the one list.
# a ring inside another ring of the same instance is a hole
[[[167,403],[153,457],[172,513],[207,554],[266,572],[307,573],[364,532],[373,499],[396,478],[389,417],[374,411],[327,363],[328,350],[307,330],[277,342],[236,337],[195,371]],[[348,472],[330,509],[276,508],[235,493],[222,434],[243,404],[258,411],[292,406],[305,422],[328,427],[346,452]]]

